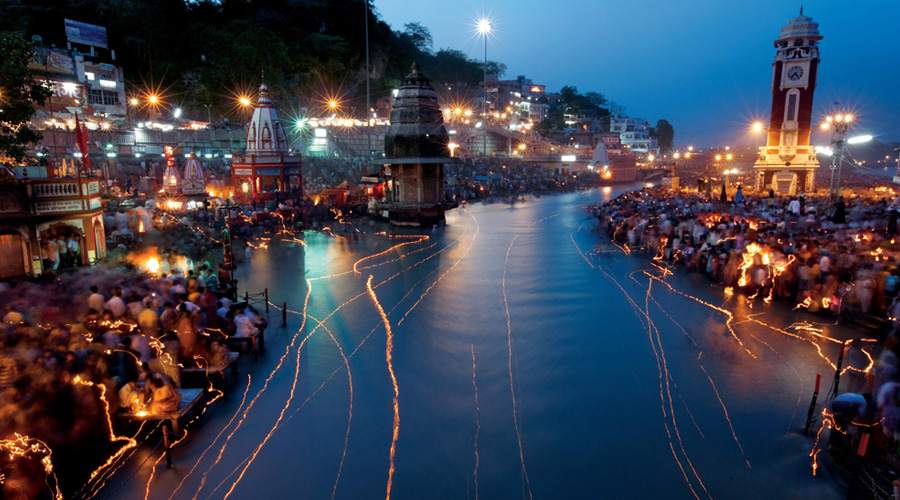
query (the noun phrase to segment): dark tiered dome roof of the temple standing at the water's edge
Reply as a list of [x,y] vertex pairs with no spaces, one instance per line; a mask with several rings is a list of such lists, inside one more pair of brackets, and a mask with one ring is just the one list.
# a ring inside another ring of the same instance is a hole
[[395,160],[443,163],[443,159],[450,157],[449,142],[434,87],[414,62],[412,73],[403,79],[394,98],[391,125],[384,137],[384,154]]

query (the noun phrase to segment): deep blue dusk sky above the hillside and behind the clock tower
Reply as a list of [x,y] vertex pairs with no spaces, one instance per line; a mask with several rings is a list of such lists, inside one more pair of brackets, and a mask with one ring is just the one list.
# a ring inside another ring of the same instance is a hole
[[[507,65],[505,79],[525,75],[558,91],[574,85],[597,91],[629,116],[660,118],[675,127],[676,146],[761,144],[750,123],[768,121],[773,41],[796,17],[781,0],[671,2],[497,0],[375,0],[395,30],[427,26],[435,49],[484,57],[476,20],[494,23],[488,59]],[[882,142],[900,140],[900,2],[806,1],[821,41],[814,123],[827,113],[852,111],[855,130]],[[813,138],[827,143],[830,136]]]

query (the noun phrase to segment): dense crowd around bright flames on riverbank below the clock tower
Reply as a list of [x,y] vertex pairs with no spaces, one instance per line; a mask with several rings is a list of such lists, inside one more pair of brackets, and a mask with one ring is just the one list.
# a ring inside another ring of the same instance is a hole
[[726,287],[811,311],[886,317],[900,291],[897,205],[886,197],[719,197],[645,189],[596,207],[610,236]]

